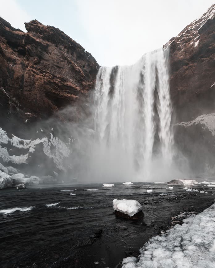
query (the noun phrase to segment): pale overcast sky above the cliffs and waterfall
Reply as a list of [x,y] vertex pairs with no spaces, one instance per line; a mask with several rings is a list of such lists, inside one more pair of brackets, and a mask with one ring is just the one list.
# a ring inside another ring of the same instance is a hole
[[214,0],[0,0],[0,16],[25,31],[37,19],[59,28],[100,65],[135,63],[162,47]]

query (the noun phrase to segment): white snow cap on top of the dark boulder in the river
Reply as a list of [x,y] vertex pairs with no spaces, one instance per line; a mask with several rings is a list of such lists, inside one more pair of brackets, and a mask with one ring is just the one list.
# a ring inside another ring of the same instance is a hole
[[141,204],[132,199],[114,199],[113,209],[128,214],[131,217],[141,210]]

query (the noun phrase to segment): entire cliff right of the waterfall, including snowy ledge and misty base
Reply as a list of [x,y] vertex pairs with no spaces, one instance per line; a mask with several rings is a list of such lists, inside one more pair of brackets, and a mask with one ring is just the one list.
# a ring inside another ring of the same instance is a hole
[[195,176],[215,176],[215,4],[170,46],[174,137]]

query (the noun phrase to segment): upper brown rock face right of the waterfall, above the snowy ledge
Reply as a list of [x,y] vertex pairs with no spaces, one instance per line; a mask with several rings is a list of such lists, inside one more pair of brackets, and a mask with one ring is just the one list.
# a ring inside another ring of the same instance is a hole
[[167,45],[176,122],[215,112],[215,4]]

